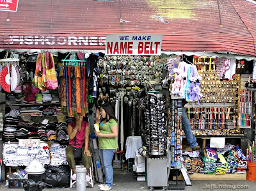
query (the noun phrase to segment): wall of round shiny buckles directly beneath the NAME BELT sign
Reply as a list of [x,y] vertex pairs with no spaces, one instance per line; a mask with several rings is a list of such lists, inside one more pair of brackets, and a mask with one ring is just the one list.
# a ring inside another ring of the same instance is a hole
[[105,56],[102,70],[104,82],[112,86],[138,86],[161,83],[163,73],[155,67],[159,56]]

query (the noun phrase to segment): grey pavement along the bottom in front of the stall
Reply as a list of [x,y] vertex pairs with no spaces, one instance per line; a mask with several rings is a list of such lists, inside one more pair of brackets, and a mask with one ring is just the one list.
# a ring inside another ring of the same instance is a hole
[[[220,175],[221,176],[221,175]],[[175,182],[173,182],[175,183]],[[186,186],[186,191],[192,191],[192,190],[256,190],[256,181],[191,181],[192,186]],[[129,174],[127,172],[123,171],[115,171],[114,174],[114,182],[113,182],[113,190],[116,191],[126,191],[126,190],[150,190],[147,187],[147,183],[145,181],[137,181],[133,174],[130,172]],[[99,183],[95,183],[95,186],[93,188],[87,187],[86,190],[88,191],[94,191],[94,190],[100,190],[99,187],[97,187]],[[206,185],[206,186],[205,186]],[[214,188],[215,185],[215,188]],[[227,188],[232,185],[233,188]],[[216,187],[225,187],[218,189]],[[246,187],[244,189],[237,189],[238,187]],[[208,187],[208,188],[205,188]],[[0,185],[0,191],[23,191],[22,188],[12,188],[9,189],[8,187],[5,187],[5,183]],[[44,191],[70,191],[70,190],[76,190],[76,188],[45,188]],[[154,190],[162,190],[162,187],[155,187]]]

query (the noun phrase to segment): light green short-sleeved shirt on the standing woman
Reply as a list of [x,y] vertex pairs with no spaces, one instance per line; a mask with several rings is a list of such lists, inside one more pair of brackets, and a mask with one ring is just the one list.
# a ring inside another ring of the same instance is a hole
[[[100,123],[100,133],[102,134],[111,134],[111,127],[118,125],[115,119],[110,119],[107,123]],[[100,149],[117,149],[118,144],[116,141],[116,137],[113,138],[106,138],[106,137],[99,137],[99,148]]]

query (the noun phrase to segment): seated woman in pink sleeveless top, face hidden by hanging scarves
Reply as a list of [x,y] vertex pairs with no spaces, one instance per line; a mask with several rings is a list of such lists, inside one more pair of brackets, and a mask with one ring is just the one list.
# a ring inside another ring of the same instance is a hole
[[[86,181],[90,181],[88,175],[89,167],[91,165],[91,151],[89,146],[90,128],[87,122],[83,121],[83,116],[76,116],[76,121],[68,124],[67,132],[69,137],[69,145],[66,148],[67,162],[73,171],[72,180],[76,180],[76,160],[74,158],[74,148],[83,148],[80,160],[83,160],[83,165],[86,167]],[[76,140],[76,145],[75,145]]]

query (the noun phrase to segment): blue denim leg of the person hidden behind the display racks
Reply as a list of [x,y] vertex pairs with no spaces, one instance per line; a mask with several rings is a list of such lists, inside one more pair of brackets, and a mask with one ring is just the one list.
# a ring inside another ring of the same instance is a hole
[[195,135],[192,133],[191,125],[189,123],[188,116],[186,115],[184,106],[182,106],[182,130],[186,135],[186,139],[188,140],[190,148],[197,146],[198,143],[196,142]]

